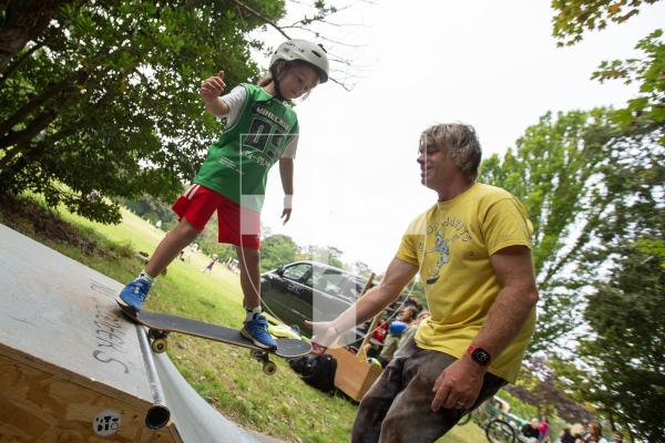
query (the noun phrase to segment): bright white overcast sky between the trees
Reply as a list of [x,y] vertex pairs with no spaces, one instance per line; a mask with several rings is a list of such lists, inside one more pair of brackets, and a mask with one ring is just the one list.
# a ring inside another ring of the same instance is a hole
[[[426,127],[474,125],[487,158],[514,146],[550,110],[621,106],[635,95],[634,86],[590,78],[603,60],[637,55],[633,48],[663,24],[665,4],[645,6],[627,23],[587,33],[572,48],[556,48],[552,16],[549,1],[386,0],[334,19],[365,24],[321,31],[365,44],[326,47],[366,69],[351,92],[329,82],[298,103],[293,217],[282,226],[274,167],[264,224],[300,246],[335,246],[345,262],[383,272],[409,222],[437,199],[420,184],[416,163]],[[268,35],[275,44],[283,40]]]

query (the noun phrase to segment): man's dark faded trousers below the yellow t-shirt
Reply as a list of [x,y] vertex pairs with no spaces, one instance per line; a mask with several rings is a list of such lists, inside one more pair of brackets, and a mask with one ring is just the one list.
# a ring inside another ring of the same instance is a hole
[[442,352],[420,349],[411,339],[360,402],[351,442],[434,442],[466,413],[507,384],[502,378],[488,372],[471,409],[441,408],[432,412],[434,381],[456,360]]

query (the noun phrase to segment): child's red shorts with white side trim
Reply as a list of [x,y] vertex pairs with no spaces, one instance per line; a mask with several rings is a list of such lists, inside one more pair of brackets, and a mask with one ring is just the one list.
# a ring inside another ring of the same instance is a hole
[[185,218],[198,231],[217,210],[217,239],[244,248],[258,249],[260,213],[241,207],[235,202],[201,185],[192,185],[171,206],[178,222]]

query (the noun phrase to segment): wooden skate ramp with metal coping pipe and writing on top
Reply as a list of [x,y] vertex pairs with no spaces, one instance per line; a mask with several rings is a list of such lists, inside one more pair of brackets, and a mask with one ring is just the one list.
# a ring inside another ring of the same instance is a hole
[[115,302],[122,285],[0,225],[0,443],[256,442]]

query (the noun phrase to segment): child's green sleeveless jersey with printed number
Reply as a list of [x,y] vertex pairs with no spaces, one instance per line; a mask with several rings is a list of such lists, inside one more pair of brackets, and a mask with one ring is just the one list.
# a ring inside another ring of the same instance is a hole
[[260,212],[268,171],[298,133],[298,119],[290,106],[263,87],[242,86],[247,93],[243,109],[208,148],[194,183]]

